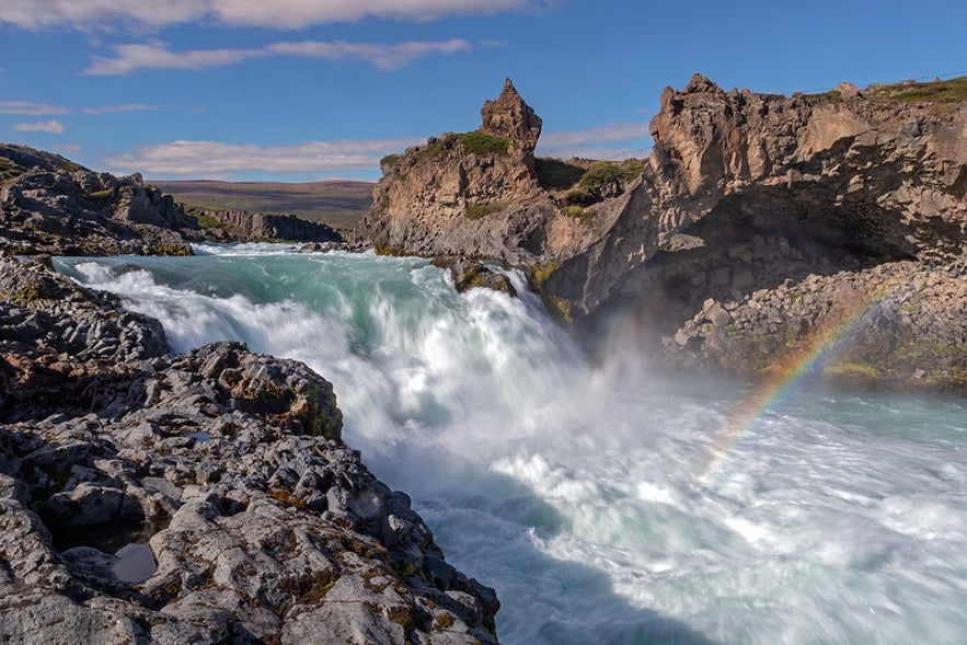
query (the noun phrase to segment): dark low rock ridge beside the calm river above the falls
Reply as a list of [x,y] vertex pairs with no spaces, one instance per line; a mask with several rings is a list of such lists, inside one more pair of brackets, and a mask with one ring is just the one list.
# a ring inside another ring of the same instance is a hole
[[0,143],[0,251],[51,255],[183,255],[191,243],[341,242],[295,216],[188,209],[146,184],[62,157]]

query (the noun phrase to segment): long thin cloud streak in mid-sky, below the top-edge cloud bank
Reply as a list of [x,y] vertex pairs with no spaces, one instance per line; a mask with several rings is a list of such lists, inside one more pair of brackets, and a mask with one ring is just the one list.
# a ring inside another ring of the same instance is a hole
[[91,76],[122,76],[139,69],[209,69],[227,67],[250,58],[267,56],[300,56],[329,60],[362,60],[382,71],[392,71],[415,59],[433,54],[448,56],[467,51],[470,43],[461,38],[440,42],[408,43],[346,43],[343,41],[302,41],[273,43],[258,49],[189,49],[172,51],[164,43],[149,45],[118,45],[115,58],[95,56],[84,73]]

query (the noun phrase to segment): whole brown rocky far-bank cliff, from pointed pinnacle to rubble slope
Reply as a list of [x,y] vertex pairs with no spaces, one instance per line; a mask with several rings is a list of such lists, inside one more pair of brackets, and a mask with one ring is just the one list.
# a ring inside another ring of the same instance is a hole
[[[530,157],[500,165],[456,143],[422,147],[387,169],[360,235],[509,261],[565,320],[601,333],[620,311],[676,365],[774,369],[850,320],[830,371],[963,389],[965,99],[965,79],[786,97],[695,74],[663,93],[631,182],[609,187],[620,172],[603,166],[597,183],[588,170],[555,192]],[[526,111],[498,120],[508,140],[533,131]],[[493,197],[506,199],[496,217],[468,221],[482,212],[470,196],[507,183],[517,193]]]

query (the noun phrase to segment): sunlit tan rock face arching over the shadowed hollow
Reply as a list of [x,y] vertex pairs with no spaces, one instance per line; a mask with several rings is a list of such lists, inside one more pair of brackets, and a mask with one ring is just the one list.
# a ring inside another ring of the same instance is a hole
[[[724,92],[701,74],[683,91],[666,89],[642,184],[575,258],[582,288],[560,295],[590,313],[633,291],[635,274],[676,234],[736,207],[747,242],[792,223],[803,237],[839,235],[844,249],[849,238],[888,258],[956,257],[967,221],[967,108],[940,112],[861,96]],[[562,281],[578,277],[568,274]]]

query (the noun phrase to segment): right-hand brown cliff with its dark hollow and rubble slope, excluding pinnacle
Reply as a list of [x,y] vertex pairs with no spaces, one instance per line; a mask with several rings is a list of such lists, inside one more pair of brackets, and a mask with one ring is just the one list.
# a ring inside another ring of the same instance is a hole
[[[903,304],[890,303],[912,296],[885,276],[959,275],[952,267],[967,251],[967,106],[877,92],[724,92],[701,74],[682,91],[667,89],[640,185],[605,206],[613,226],[561,260],[542,289],[574,318],[636,310],[675,364],[756,373],[839,324],[832,312],[849,310],[866,293],[855,284],[868,283],[888,291],[879,322],[844,341],[832,369],[905,388],[932,376],[934,385],[963,390],[955,315],[910,326]],[[809,280],[825,285],[822,299],[763,304],[811,292]],[[918,293],[916,307],[963,309],[956,280],[944,284]],[[735,320],[718,315],[706,329],[710,298]],[[905,349],[911,334],[952,349],[943,360],[918,358]]]

